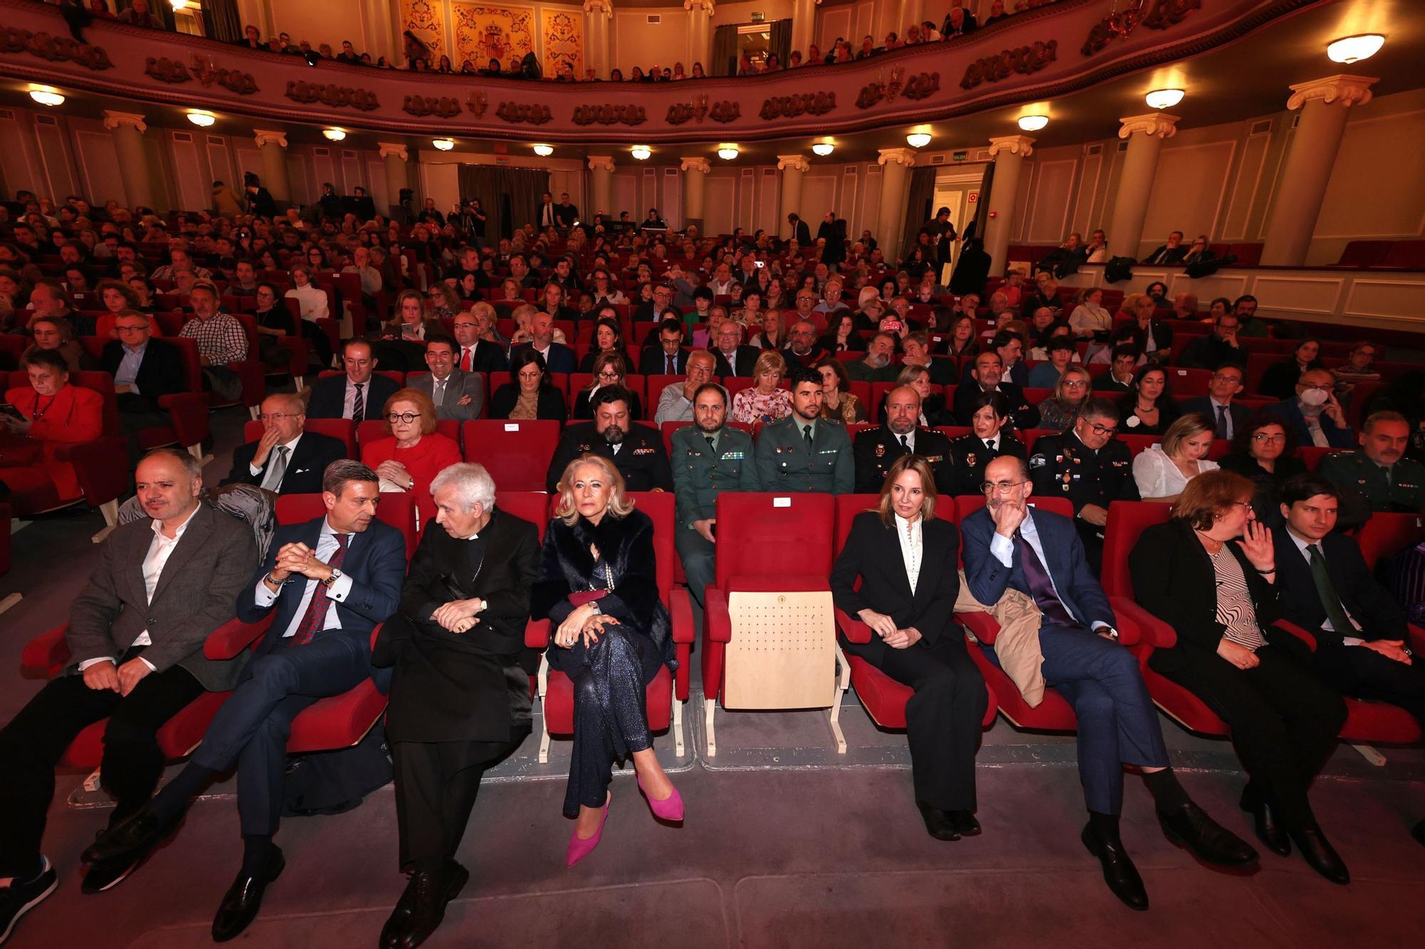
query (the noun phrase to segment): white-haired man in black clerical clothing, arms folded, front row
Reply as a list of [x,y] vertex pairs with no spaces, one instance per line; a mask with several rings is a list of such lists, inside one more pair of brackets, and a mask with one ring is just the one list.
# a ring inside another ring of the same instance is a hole
[[455,861],[484,771],[530,732],[522,665],[530,588],[539,580],[534,524],[494,507],[479,465],[452,465],[430,483],[436,524],[410,561],[400,611],[382,626],[373,663],[393,665],[386,740],[396,769],[400,869],[410,875],[380,945],[430,936],[470,873]]

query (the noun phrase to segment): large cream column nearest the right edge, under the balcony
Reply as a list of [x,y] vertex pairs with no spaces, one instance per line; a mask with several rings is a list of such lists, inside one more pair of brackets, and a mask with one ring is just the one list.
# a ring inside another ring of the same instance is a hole
[[[1263,266],[1301,266],[1307,262],[1331,167],[1345,134],[1347,110],[1371,101],[1368,76],[1328,76],[1291,87],[1287,108],[1301,110],[1291,148],[1281,165],[1277,194],[1267,218]],[[1385,182],[1381,182],[1385,184]]]

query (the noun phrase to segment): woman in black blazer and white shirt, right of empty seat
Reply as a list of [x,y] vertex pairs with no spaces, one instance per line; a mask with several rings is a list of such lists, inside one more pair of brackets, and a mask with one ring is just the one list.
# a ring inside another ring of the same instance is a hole
[[[935,517],[935,476],[918,455],[896,459],[878,510],[856,514],[831,571],[839,610],[871,627],[869,643],[838,637],[841,648],[909,685],[915,804],[931,836],[979,834],[975,819],[975,744],[985,714],[985,680],[955,621],[960,536]],[[909,546],[901,534],[909,531]],[[856,588],[856,579],[861,588]]]

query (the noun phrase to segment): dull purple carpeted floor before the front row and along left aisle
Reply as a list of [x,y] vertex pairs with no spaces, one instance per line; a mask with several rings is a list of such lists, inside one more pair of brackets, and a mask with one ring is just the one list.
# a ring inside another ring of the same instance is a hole
[[[241,419],[214,419],[227,470]],[[0,616],[0,721],[40,683],[17,674],[24,641],[63,623],[103,526],[94,512],[33,523],[14,536],[16,566],[0,597],[24,598]],[[695,665],[695,664],[694,664]],[[1123,835],[1147,883],[1150,912],[1134,913],[1104,888],[1079,844],[1082,794],[1072,738],[1017,732],[1003,720],[979,762],[979,838],[931,839],[916,814],[903,737],[876,730],[848,694],[849,744],[836,755],[821,712],[718,710],[718,755],[707,758],[701,691],[685,714],[688,755],[660,737],[660,757],[687,802],[681,828],[654,822],[620,775],[600,848],[564,868],[571,824],[559,814],[567,741],[539,765],[534,741],[480,792],[460,858],[470,885],[432,946],[948,946],[1097,945],[1340,946],[1411,945],[1425,926],[1425,848],[1409,836],[1425,816],[1425,755],[1382,750],[1372,767],[1341,748],[1312,799],[1352,871],[1334,886],[1297,856],[1265,856],[1250,876],[1198,866],[1168,844],[1140,779],[1127,778]],[[1163,720],[1183,784],[1208,811],[1250,835],[1237,809],[1241,775],[1226,742]],[[232,782],[198,801],[177,838],[118,888],[84,896],[78,854],[107,819],[84,775],[61,774],[46,851],[58,892],[31,912],[10,945],[211,945],[212,912],[237,871],[241,845]],[[3,779],[3,771],[0,771]],[[289,819],[278,842],[288,868],[268,891],[245,945],[370,946],[405,878],[395,866],[392,789],[358,809]]]

